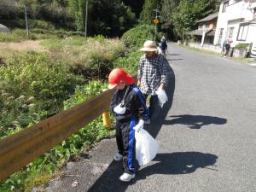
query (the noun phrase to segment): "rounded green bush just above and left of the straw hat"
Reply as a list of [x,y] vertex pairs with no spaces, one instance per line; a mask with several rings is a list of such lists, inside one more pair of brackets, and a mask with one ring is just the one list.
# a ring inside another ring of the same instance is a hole
[[121,38],[128,48],[142,47],[146,40],[154,40],[154,26],[142,25],[137,26],[125,32]]

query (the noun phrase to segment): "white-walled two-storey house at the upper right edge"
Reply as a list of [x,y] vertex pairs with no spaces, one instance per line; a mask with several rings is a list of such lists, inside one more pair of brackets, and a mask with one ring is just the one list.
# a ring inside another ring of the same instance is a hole
[[224,39],[232,40],[231,46],[253,43],[256,56],[256,0],[221,2],[213,44],[223,44]]

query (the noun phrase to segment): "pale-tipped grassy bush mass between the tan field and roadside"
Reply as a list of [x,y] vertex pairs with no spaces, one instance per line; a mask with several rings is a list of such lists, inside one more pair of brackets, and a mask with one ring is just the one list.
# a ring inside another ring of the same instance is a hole
[[70,37],[46,40],[52,56],[67,61],[73,72],[86,79],[105,79],[113,68],[113,61],[125,55],[125,46],[119,39]]

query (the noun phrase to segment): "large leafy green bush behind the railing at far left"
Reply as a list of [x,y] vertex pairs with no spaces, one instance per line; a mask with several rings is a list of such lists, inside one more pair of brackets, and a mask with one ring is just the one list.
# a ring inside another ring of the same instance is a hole
[[[41,118],[60,112],[63,101],[73,94],[75,86],[83,81],[69,72],[67,64],[52,61],[47,53],[35,52],[10,57],[6,64],[0,67],[0,76],[5,83],[1,91],[13,96],[14,101],[20,96],[34,97],[33,103]],[[3,103],[6,103],[6,99],[2,99],[5,101]],[[5,107],[7,108],[6,104]],[[14,113],[12,110],[10,108],[8,113]],[[16,118],[14,113],[12,119]]]

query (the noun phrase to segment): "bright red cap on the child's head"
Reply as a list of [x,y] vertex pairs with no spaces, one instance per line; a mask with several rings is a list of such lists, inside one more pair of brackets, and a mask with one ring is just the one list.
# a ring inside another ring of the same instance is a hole
[[122,68],[115,68],[111,71],[108,76],[108,89],[115,88],[120,82],[125,82],[126,84],[134,84],[134,79],[129,73],[126,73]]

